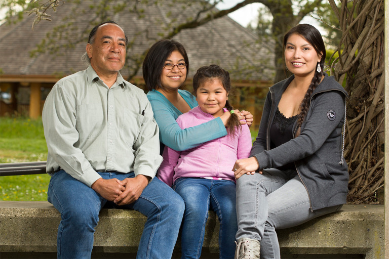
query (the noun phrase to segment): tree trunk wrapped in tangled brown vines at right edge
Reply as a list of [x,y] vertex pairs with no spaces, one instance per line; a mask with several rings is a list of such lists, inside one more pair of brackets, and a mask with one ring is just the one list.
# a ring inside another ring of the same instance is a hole
[[331,73],[344,78],[347,123],[344,157],[349,167],[348,202],[378,203],[384,180],[384,1],[360,0],[341,7],[329,0],[340,22],[339,58]]

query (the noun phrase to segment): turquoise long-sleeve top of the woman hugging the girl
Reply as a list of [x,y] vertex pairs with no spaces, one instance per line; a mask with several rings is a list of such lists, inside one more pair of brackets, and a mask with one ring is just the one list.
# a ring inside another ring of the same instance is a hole
[[[190,109],[198,106],[196,98],[188,91],[178,90],[178,93],[184,98]],[[176,119],[182,112],[166,99],[163,94],[152,90],[147,93],[147,98],[151,103],[154,119],[160,128],[160,142],[176,151],[197,147],[204,142],[227,135],[225,126],[220,118],[215,118],[194,127],[181,129]],[[161,147],[161,150],[163,150],[163,147]]]

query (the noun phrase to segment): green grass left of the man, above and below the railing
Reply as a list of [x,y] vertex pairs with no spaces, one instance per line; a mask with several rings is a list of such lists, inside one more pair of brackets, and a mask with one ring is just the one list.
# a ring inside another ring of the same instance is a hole
[[[0,163],[45,161],[42,119],[0,118]],[[49,175],[0,177],[0,200],[47,200]]]

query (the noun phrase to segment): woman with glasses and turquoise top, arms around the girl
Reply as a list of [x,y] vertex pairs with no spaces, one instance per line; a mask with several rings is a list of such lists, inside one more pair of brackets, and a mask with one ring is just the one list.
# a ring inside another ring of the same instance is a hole
[[[193,95],[179,89],[188,72],[186,51],[175,40],[155,42],[143,61],[143,78],[149,91],[147,98],[160,128],[161,154],[165,145],[183,151],[227,135],[225,125],[230,117],[229,112],[198,126],[181,129],[177,124],[179,115],[198,105]],[[247,111],[242,111],[240,115],[242,119],[245,116],[250,126],[253,116]]]

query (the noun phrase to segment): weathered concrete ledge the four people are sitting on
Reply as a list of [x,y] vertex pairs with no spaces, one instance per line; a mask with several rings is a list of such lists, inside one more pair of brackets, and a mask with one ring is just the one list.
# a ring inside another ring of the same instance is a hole
[[[136,253],[145,221],[137,211],[103,209],[93,252]],[[0,252],[56,252],[59,222],[59,212],[46,201],[0,201]],[[218,232],[217,217],[210,213],[203,254],[218,257]],[[285,255],[352,254],[383,258],[383,205],[344,205],[341,211],[279,230],[278,235]],[[177,242],[178,252],[179,245]]]

